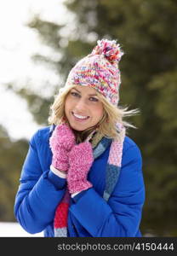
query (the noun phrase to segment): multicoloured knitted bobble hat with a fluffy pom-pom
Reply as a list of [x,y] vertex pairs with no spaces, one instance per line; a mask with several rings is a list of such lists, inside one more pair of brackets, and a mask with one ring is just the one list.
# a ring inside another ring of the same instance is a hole
[[115,40],[98,40],[91,54],[71,69],[65,87],[73,84],[90,86],[105,96],[108,102],[117,105],[121,84],[118,62],[122,55],[123,51]]

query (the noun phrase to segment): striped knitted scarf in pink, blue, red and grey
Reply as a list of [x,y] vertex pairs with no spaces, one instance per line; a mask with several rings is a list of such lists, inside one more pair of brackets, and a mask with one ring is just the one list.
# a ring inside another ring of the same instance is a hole
[[[97,159],[100,154],[103,154],[106,148],[111,144],[106,165],[106,187],[103,194],[103,198],[106,201],[108,201],[111,196],[111,192],[117,183],[121,169],[123,142],[125,137],[125,128],[123,125],[117,123],[117,132],[119,133],[119,138],[117,140],[100,137],[99,133],[96,133],[91,141],[94,160]],[[66,193],[56,208],[54,215],[55,237],[67,237],[67,217],[70,199],[71,195],[66,188]]]

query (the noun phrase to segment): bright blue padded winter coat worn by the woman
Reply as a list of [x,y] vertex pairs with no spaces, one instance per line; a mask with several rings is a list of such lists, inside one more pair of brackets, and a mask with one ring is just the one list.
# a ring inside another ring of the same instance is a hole
[[[66,179],[50,171],[52,127],[44,127],[31,137],[14,202],[14,215],[20,225],[31,234],[44,230],[44,236],[54,236],[54,212],[66,191]],[[145,186],[140,149],[125,137],[120,176],[106,202],[102,195],[109,150],[110,146],[94,160],[88,172],[93,188],[71,198],[68,236],[141,236]]]

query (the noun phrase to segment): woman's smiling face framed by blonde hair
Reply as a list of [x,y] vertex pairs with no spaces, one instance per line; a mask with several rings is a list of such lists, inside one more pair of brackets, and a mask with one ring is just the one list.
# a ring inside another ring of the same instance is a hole
[[66,96],[66,118],[71,128],[84,131],[96,125],[103,116],[103,103],[96,96],[96,90],[77,85]]

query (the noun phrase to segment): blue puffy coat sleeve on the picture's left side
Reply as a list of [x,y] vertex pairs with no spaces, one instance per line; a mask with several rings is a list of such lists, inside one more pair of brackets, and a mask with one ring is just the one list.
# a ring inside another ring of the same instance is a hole
[[66,190],[66,178],[57,177],[50,170],[42,171],[37,150],[40,143],[37,131],[29,143],[14,201],[15,218],[31,234],[43,231],[53,222],[55,208]]

